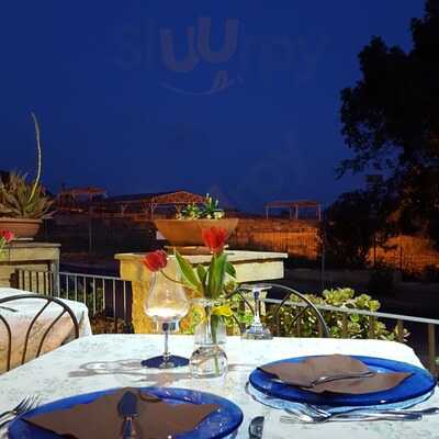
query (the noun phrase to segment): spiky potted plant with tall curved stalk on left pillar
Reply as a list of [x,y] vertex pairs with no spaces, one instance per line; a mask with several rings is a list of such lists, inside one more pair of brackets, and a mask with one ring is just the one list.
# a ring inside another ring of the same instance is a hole
[[34,113],[32,119],[38,157],[35,181],[27,182],[26,175],[19,172],[11,172],[0,180],[0,228],[11,230],[18,239],[33,239],[52,205],[40,183],[42,173],[40,126]]

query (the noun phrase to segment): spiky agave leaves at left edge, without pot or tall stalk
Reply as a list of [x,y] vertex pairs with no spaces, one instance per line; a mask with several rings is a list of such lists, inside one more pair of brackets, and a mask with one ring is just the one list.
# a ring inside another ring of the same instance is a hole
[[38,219],[52,203],[41,184],[27,183],[26,175],[12,172],[0,182],[0,216]]

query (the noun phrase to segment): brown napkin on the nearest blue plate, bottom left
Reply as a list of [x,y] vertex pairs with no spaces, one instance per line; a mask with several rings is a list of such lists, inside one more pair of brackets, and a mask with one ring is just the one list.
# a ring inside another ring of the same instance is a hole
[[216,404],[167,404],[138,389],[120,389],[89,404],[36,415],[25,420],[60,436],[76,439],[114,439],[122,437],[123,419],[117,404],[127,391],[138,395],[138,417],[134,419],[142,439],[168,439],[169,436],[193,430],[204,418],[217,410]]

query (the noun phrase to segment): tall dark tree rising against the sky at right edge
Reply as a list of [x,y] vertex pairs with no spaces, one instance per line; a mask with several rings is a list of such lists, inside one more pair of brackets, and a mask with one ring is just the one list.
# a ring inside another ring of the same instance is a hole
[[439,243],[439,0],[410,25],[413,48],[373,37],[359,54],[362,78],[341,92],[342,134],[353,153],[338,169],[381,170],[402,227]]

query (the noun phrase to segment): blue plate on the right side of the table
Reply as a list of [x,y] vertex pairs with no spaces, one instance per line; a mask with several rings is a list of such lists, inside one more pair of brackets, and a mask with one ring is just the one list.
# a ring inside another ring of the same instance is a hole
[[[296,363],[309,357],[290,358],[275,361]],[[376,372],[410,372],[413,373],[396,387],[384,392],[367,393],[362,395],[348,395],[336,393],[312,393],[289,384],[275,381],[275,376],[256,369],[249,378],[251,385],[259,392],[270,397],[292,401],[295,403],[308,403],[325,406],[378,406],[382,404],[394,404],[407,399],[415,399],[421,395],[430,393],[436,385],[432,375],[425,369],[404,363],[401,361],[386,360],[373,357],[352,356],[357,360],[365,363],[370,370]]]

